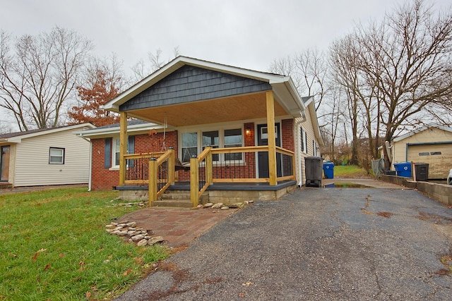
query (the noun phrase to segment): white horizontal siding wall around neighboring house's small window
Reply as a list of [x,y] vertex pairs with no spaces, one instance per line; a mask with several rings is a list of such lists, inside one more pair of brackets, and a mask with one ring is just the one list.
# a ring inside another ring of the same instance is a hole
[[[15,186],[88,183],[90,142],[65,130],[23,139],[16,145]],[[64,164],[49,164],[49,148],[64,148]]]

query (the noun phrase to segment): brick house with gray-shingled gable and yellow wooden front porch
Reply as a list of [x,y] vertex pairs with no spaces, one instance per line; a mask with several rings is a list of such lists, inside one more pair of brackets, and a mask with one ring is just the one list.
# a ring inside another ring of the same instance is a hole
[[176,189],[194,205],[216,190],[275,199],[303,185],[304,157],[323,145],[313,99],[290,77],[184,56],[104,108],[119,125],[78,133],[92,144],[90,188],[148,189],[150,202]]

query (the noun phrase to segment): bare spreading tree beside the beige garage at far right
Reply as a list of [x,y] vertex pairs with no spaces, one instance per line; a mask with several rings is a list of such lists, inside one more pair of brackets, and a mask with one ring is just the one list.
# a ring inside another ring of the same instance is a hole
[[384,139],[391,141],[400,130],[436,118],[425,115],[433,108],[444,109],[452,95],[452,13],[434,16],[432,6],[415,0],[396,8],[380,26],[360,29],[358,35],[359,68],[381,104]]

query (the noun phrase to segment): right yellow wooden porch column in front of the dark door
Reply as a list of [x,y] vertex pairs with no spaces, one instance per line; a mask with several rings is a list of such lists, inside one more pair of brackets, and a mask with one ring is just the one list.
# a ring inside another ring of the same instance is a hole
[[268,177],[270,185],[276,185],[276,140],[275,140],[275,99],[273,91],[266,92],[267,135],[268,135]]

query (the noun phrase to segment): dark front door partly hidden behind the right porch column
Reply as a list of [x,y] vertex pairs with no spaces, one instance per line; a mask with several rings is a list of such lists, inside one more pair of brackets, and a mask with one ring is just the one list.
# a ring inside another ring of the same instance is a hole
[[[266,124],[257,125],[257,145],[268,145],[268,128]],[[281,146],[281,135],[280,135],[280,123],[275,123],[275,140],[276,146]],[[276,170],[278,177],[282,175],[281,172],[281,154],[276,154]],[[269,168],[268,168],[268,152],[258,152],[258,168],[259,168],[259,178],[268,178]]]

